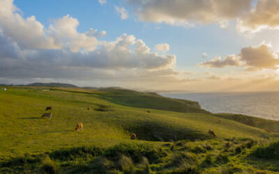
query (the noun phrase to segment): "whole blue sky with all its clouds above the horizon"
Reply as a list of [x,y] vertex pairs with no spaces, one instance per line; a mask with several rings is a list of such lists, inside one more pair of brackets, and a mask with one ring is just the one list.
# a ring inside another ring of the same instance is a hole
[[0,84],[276,91],[277,0],[0,0]]

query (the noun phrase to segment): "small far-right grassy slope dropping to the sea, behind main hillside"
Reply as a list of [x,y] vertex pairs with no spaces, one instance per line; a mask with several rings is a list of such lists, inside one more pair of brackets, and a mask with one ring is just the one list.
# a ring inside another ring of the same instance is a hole
[[215,113],[213,114],[213,116],[241,122],[243,124],[250,125],[252,127],[265,129],[268,132],[279,132],[279,121],[275,121],[275,120],[266,120],[262,118],[256,118],[256,117],[244,116],[241,114],[232,114],[232,113]]

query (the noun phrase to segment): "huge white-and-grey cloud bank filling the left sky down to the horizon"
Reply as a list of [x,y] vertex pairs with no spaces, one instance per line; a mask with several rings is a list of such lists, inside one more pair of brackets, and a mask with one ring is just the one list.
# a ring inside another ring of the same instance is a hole
[[110,85],[117,85],[119,81],[137,84],[144,80],[153,83],[155,79],[158,83],[183,80],[179,77],[182,72],[174,70],[175,55],[151,52],[134,35],[98,40],[105,31],[89,29],[80,33],[77,31],[80,22],[70,15],[52,19],[50,26],[45,27],[36,17],[24,19],[12,0],[0,3],[5,7],[0,6],[0,79],[3,81],[59,79],[110,81]]

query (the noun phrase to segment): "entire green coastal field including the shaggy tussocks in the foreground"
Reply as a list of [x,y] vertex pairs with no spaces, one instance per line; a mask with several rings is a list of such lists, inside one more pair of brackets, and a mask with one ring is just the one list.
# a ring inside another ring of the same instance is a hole
[[0,91],[0,173],[279,172],[279,134],[257,120],[156,93],[44,88]]

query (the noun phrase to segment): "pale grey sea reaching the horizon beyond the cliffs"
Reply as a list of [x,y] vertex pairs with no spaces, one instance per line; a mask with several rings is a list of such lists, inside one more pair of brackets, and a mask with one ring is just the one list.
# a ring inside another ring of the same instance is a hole
[[193,100],[212,113],[240,113],[279,120],[279,92],[262,93],[160,93],[165,97]]

